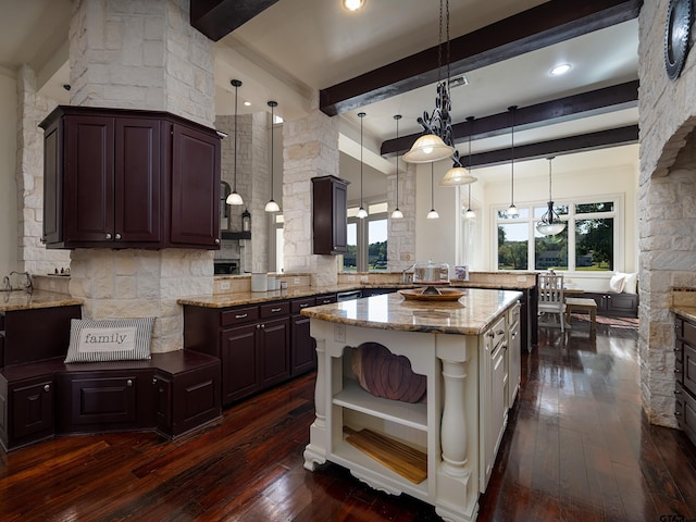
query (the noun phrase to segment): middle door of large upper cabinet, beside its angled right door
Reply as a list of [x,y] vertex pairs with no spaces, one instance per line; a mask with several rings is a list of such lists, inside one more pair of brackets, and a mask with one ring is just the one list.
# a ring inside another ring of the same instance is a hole
[[115,122],[115,241],[161,239],[160,122],[124,117]]

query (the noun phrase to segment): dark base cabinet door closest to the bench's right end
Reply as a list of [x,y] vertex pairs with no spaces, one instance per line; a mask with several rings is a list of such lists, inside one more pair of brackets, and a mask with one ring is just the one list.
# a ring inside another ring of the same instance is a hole
[[223,330],[220,334],[223,406],[259,389],[257,325]]

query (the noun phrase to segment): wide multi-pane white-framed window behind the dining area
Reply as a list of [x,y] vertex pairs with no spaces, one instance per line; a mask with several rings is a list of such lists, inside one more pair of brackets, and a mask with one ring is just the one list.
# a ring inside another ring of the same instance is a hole
[[621,195],[602,202],[577,200],[555,206],[567,223],[555,236],[544,236],[535,228],[546,206],[520,207],[520,216],[514,219],[497,209],[498,270],[613,271],[618,258],[623,259],[623,238],[617,233],[622,208]]

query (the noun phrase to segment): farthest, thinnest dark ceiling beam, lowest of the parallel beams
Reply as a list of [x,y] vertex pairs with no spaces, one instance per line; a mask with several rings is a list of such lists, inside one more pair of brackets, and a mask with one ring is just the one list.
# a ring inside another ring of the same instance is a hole
[[[606,149],[609,147],[620,147],[638,142],[638,126],[627,125],[625,127],[599,130],[596,133],[570,136],[567,138],[539,141],[537,144],[522,145],[514,148],[514,161],[536,160],[548,158],[549,156],[568,154],[571,152],[584,152],[589,150]],[[511,148],[489,150],[471,154],[471,166],[483,167],[508,163],[512,160]],[[469,165],[469,157],[463,163]]]

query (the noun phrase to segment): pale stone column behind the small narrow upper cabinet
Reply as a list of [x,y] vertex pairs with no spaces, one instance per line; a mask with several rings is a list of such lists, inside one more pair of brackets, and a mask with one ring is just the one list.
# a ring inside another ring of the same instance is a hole
[[283,125],[283,234],[288,273],[311,273],[312,285],[335,285],[335,256],[312,254],[312,183],[338,176],[338,120],[314,110]]

